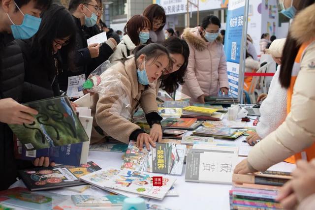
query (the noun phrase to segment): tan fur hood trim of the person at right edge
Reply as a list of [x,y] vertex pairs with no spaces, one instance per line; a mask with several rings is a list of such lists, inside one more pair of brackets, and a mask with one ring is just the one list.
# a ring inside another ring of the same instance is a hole
[[315,3],[296,15],[290,32],[299,44],[315,39]]

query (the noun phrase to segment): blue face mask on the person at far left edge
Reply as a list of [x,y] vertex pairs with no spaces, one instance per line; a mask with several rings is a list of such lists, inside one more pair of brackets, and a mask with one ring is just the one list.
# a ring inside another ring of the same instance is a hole
[[13,21],[11,20],[9,14],[6,13],[9,20],[13,24],[11,25],[13,37],[15,39],[29,39],[38,31],[40,23],[41,23],[41,18],[36,18],[29,14],[24,15],[16,3],[15,5],[24,16],[24,19],[23,19],[22,25],[15,25]]

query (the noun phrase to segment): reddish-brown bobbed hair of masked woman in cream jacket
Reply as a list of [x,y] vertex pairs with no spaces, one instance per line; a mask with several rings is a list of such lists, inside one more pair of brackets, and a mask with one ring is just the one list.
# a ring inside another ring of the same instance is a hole
[[151,23],[148,18],[143,15],[132,16],[124,28],[124,32],[129,36],[134,45],[140,44],[139,33],[142,29],[151,29]]

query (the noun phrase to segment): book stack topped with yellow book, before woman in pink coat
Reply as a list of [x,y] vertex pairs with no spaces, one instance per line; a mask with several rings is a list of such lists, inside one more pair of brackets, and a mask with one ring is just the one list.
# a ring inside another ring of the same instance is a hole
[[183,108],[181,118],[196,118],[198,120],[221,120],[223,115],[218,109],[207,107],[188,106]]

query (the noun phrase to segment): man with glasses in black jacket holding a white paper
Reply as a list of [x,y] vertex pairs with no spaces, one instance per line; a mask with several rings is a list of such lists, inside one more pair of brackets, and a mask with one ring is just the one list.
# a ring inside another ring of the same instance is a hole
[[[76,27],[76,43],[75,43],[75,53],[74,53],[74,71],[65,70],[59,74],[59,86],[63,91],[67,90],[68,77],[84,75],[85,78],[94,70],[89,66],[91,63],[95,63],[95,58],[100,59],[101,64],[108,58],[101,56],[100,45],[94,43],[88,46],[87,39],[90,38],[85,29],[95,27],[97,20],[97,12],[99,7],[96,0],[70,0],[69,11],[73,16],[75,27]],[[110,46],[111,45],[111,46]],[[112,49],[115,48],[114,43],[108,40],[106,43],[102,44],[102,48],[107,47],[107,51],[113,52]],[[62,55],[64,50],[61,50]],[[98,58],[100,57],[100,58]],[[108,56],[109,57],[109,56]]]

